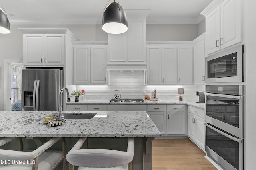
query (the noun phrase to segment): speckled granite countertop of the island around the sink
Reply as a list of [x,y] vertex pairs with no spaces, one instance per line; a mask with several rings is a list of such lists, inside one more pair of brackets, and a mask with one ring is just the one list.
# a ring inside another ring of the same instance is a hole
[[57,127],[43,124],[44,116],[57,113],[56,111],[0,111],[0,137],[160,137],[161,135],[144,111],[99,111],[94,112],[97,115],[92,119],[67,120],[64,125]]

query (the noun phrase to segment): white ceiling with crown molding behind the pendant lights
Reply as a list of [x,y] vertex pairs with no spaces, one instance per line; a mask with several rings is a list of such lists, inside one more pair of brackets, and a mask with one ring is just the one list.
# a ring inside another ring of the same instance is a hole
[[[204,18],[200,12],[212,1],[119,0],[125,11],[147,10],[147,24],[197,24]],[[108,0],[0,0],[6,13],[13,15],[8,17],[11,24],[101,24],[107,2]]]

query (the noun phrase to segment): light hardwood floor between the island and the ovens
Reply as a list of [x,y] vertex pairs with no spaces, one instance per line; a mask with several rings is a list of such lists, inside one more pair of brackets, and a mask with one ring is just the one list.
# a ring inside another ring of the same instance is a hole
[[155,139],[152,170],[217,170],[189,139]]

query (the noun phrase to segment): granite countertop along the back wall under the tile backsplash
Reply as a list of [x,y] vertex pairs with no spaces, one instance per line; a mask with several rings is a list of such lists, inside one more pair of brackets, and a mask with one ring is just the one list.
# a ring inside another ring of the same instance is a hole
[[184,100],[182,102],[178,100],[159,100],[159,101],[150,101],[150,100],[144,100],[142,103],[110,103],[109,100],[80,100],[79,102],[66,102],[67,105],[72,105],[72,104],[81,104],[81,105],[86,105],[86,104],[114,104],[114,105],[127,105],[127,104],[134,104],[134,105],[173,105],[173,104],[187,104],[189,106],[194,106],[199,109],[205,109],[205,103],[196,103],[196,101],[192,100]]

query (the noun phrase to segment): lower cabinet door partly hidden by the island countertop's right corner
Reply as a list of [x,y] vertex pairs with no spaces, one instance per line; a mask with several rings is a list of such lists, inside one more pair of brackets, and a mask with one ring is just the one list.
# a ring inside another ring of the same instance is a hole
[[155,123],[162,135],[166,135],[166,112],[148,112],[149,117]]

